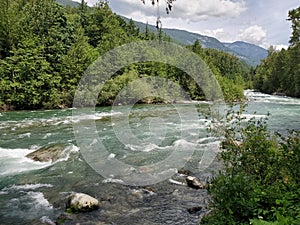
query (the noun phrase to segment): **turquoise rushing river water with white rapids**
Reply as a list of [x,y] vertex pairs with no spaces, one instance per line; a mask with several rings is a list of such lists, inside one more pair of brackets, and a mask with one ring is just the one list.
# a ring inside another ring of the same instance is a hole
[[[300,128],[299,99],[251,91],[245,94],[249,99],[246,117],[262,118],[270,113],[268,123],[272,130],[286,132]],[[202,103],[198,108],[205,109],[208,105]],[[185,115],[184,123],[180,122],[178,108]],[[209,201],[206,190],[180,185],[184,177],[177,173],[171,179],[146,187],[123,185],[118,177],[104,178],[80,154],[82,150],[73,130],[73,124],[95,121],[109,158],[133,166],[164,160],[178,146],[183,150],[195,148],[184,169],[205,181],[218,163],[213,162],[203,170],[199,161],[218,140],[209,136],[206,130],[209,119],[202,114],[196,119],[190,115],[194,108],[192,103],[176,108],[172,105],[139,105],[128,117],[124,116],[122,106],[113,110],[102,107],[96,109],[92,118],[74,117],[72,109],[2,112],[0,224],[54,224],[65,209],[66,197],[73,191],[96,197],[100,200],[100,208],[74,215],[66,224],[198,224]],[[124,141],[122,133],[131,133],[139,142]],[[67,156],[58,162],[34,162],[25,157],[39,147],[53,143],[67,146]],[[189,213],[187,209],[195,206],[203,209]]]

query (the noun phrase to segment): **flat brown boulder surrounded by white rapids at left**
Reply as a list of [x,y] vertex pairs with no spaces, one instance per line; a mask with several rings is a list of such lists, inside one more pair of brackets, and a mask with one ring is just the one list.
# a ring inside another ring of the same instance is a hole
[[38,162],[56,162],[66,157],[66,147],[64,144],[46,145],[27,154],[26,157]]

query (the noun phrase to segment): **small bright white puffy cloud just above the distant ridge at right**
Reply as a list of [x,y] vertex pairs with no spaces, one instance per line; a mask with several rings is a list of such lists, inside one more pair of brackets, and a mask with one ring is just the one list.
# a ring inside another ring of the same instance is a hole
[[241,30],[241,33],[239,34],[238,37],[241,41],[256,44],[261,47],[267,47],[266,44],[267,33],[261,26],[253,25],[251,27],[248,27],[245,30]]

